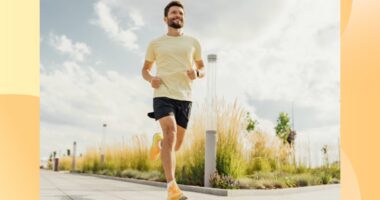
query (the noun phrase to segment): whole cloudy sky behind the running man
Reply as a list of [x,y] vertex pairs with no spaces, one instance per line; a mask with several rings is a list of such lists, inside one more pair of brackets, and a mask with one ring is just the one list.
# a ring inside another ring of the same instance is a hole
[[[168,2],[41,0],[41,159],[63,155],[73,141],[84,153],[103,133],[113,144],[159,130],[146,117],[153,92],[141,68],[148,43],[167,31]],[[337,157],[339,1],[182,2],[184,34],[199,39],[206,68],[207,55],[218,55],[218,98],[238,101],[268,134],[287,112],[296,142],[312,149],[314,164],[324,144]],[[205,100],[206,83],[194,81],[193,113]]]

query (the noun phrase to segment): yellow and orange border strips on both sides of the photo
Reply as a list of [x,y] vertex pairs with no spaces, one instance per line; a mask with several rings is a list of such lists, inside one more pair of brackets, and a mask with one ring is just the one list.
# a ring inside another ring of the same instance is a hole
[[[0,2],[0,199],[39,191],[40,1]],[[341,199],[377,199],[380,1],[341,0]]]

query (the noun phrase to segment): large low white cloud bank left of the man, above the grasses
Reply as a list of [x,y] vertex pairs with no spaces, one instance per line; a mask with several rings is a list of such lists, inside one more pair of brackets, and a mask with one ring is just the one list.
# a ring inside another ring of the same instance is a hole
[[[156,131],[149,84],[116,71],[104,73],[91,66],[65,62],[41,72],[41,141],[46,151],[77,141],[83,148],[98,144],[103,123],[107,142]],[[48,142],[52,141],[52,142]]]

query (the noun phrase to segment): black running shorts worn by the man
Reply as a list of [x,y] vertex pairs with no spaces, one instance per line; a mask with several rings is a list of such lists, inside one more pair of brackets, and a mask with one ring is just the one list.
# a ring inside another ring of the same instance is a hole
[[181,101],[167,97],[153,98],[153,113],[149,117],[159,120],[163,117],[173,115],[177,125],[186,129],[191,114],[191,101]]

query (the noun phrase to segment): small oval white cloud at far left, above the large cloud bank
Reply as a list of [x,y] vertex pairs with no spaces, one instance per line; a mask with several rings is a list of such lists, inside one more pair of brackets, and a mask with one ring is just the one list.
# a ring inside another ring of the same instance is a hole
[[77,61],[83,61],[86,55],[91,54],[90,47],[84,42],[73,42],[66,35],[50,33],[50,45],[63,54],[68,54]]

